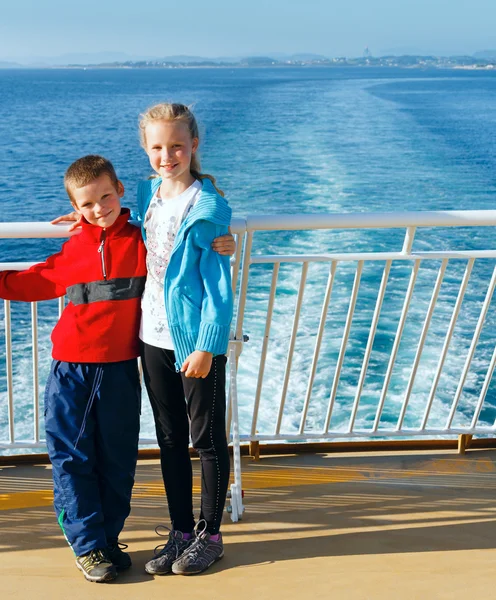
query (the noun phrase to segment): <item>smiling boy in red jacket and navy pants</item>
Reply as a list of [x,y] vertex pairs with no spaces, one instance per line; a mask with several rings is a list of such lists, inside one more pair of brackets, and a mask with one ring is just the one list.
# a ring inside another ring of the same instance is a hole
[[89,581],[131,566],[118,537],[130,512],[139,436],[137,368],[146,250],[112,164],[85,156],[64,184],[81,233],[26,271],[0,273],[0,296],[33,302],[67,295],[52,332],[45,429],[54,507]]

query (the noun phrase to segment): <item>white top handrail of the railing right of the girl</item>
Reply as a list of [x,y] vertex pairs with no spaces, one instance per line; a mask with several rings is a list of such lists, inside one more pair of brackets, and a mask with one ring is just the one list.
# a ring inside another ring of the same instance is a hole
[[296,229],[394,229],[496,225],[496,210],[248,215],[247,231]]

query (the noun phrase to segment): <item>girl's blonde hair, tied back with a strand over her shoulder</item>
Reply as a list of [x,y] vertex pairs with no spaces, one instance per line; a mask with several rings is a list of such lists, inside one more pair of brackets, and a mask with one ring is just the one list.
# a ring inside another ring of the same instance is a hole
[[[200,133],[198,131],[198,124],[195,119],[195,115],[184,104],[176,104],[169,102],[162,102],[150,107],[146,112],[142,113],[139,118],[139,129],[140,129],[140,141],[141,145],[146,151],[146,126],[154,121],[179,121],[184,123],[191,135],[191,139],[197,138],[200,141]],[[224,192],[220,190],[215,181],[215,177],[201,172],[200,157],[198,151],[191,156],[190,165],[191,175],[195,179],[210,179],[214,184],[215,189],[221,196],[224,196]]]

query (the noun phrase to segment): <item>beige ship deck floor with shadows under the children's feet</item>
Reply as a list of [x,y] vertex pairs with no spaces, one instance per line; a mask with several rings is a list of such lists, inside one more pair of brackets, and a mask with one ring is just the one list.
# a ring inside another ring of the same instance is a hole
[[143,565],[167,513],[158,461],[141,461],[122,535],[133,567],[93,584],[55,522],[50,467],[0,468],[2,599],[496,599],[496,452],[271,456],[243,472],[224,559],[154,579]]

